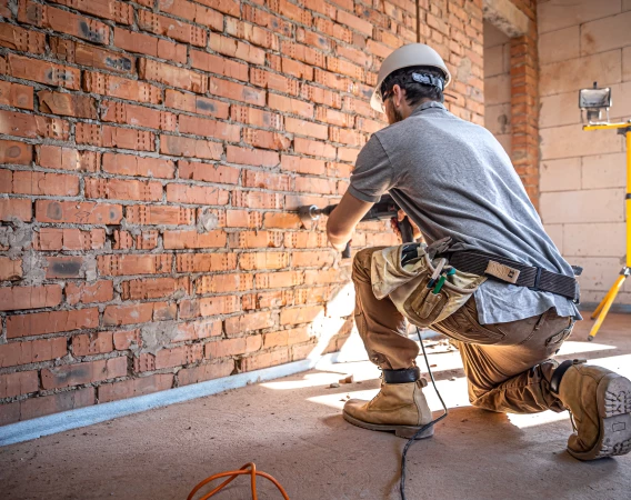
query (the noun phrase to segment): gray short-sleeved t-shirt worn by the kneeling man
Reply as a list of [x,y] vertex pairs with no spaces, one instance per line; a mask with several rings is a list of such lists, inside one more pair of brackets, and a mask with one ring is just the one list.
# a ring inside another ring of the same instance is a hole
[[[451,237],[454,250],[482,250],[573,276],[493,134],[439,102],[373,133],[360,151],[349,192],[375,202],[388,191],[430,243]],[[474,297],[482,324],[550,308],[581,319],[571,300],[525,287],[489,280]]]

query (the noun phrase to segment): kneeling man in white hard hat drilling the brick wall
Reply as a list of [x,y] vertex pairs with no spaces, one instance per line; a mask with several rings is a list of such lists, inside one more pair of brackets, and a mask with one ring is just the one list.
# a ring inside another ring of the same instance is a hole
[[[472,251],[487,256],[477,274],[484,274],[493,259],[521,264],[530,279],[512,284],[488,276],[463,307],[432,324],[460,350],[471,403],[518,413],[568,409],[575,424],[568,441],[572,456],[592,460],[628,453],[631,382],[579,360],[549,359],[581,319],[578,286],[508,154],[484,128],[443,107],[451,76],[430,47],[395,50],[378,80],[371,106],[385,113],[390,127],[373,133],[358,157],[349,190],[327,224],[332,246],[342,250],[372,203],[389,192],[429,243],[451,237],[450,256],[464,256],[453,267],[473,266]],[[419,347],[407,337],[405,319],[389,297],[374,297],[375,250],[362,250],[353,261],[354,314],[383,380],[372,401],[350,400],[343,414],[357,426],[409,437],[431,421],[431,412],[414,361]]]

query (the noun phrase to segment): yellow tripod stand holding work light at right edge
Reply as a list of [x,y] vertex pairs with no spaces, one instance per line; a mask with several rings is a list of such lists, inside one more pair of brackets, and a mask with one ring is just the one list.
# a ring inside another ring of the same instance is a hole
[[611,304],[615,300],[618,292],[624,284],[627,278],[631,276],[631,120],[624,123],[594,123],[583,127],[583,130],[618,130],[618,133],[627,138],[627,197],[625,197],[625,220],[627,220],[627,262],[620,271],[620,276],[609,289],[602,302],[593,311],[591,319],[595,319],[588,340],[593,340]]

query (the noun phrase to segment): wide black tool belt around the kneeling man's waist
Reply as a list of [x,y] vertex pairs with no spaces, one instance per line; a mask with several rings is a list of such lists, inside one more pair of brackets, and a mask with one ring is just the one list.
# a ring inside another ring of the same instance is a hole
[[[501,264],[517,269],[520,272],[517,282],[513,283],[518,287],[528,287],[534,291],[547,291],[550,293],[555,293],[558,296],[565,297],[567,299],[570,299],[575,303],[579,303],[580,300],[579,283],[573,277],[559,274],[558,272],[548,271],[547,269],[542,268],[527,266],[524,263],[507,259],[505,257],[494,256],[492,253],[485,253],[481,251],[465,250],[458,252],[445,252],[437,257],[448,258],[449,264],[453,266],[459,271],[470,272],[478,276],[485,276],[491,280],[505,283],[507,281],[485,273],[490,261],[499,262]],[[580,274],[580,271],[578,271],[578,274]]]

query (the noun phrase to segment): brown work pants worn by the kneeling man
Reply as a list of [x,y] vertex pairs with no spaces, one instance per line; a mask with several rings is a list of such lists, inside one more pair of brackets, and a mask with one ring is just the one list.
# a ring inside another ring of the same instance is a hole
[[[357,327],[370,360],[384,369],[415,364],[419,346],[407,336],[407,321],[387,297],[372,292],[372,253],[361,250],[353,261]],[[462,357],[469,382],[469,399],[492,411],[535,413],[563,411],[550,391],[557,362],[549,359],[572,331],[573,320],[557,316],[554,309],[532,318],[507,323],[480,324],[471,298],[452,316],[432,329],[453,339]]]

